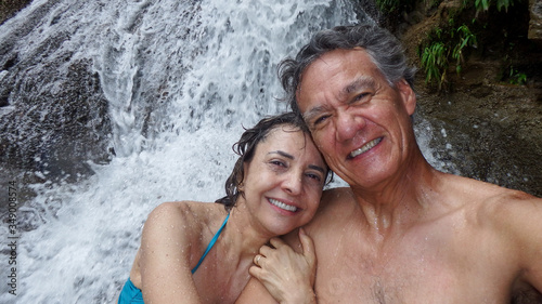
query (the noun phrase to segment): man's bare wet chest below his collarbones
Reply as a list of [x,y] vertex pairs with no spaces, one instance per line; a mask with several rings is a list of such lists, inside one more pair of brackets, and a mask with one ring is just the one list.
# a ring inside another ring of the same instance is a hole
[[509,286],[488,263],[441,240],[317,248],[319,303],[507,303]]

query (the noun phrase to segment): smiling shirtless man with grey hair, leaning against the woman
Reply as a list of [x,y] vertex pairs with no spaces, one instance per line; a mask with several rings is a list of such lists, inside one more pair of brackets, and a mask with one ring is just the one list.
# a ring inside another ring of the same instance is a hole
[[413,70],[389,32],[321,31],[281,77],[350,186],[327,190],[305,228],[319,303],[542,303],[542,199],[431,168],[412,128]]

